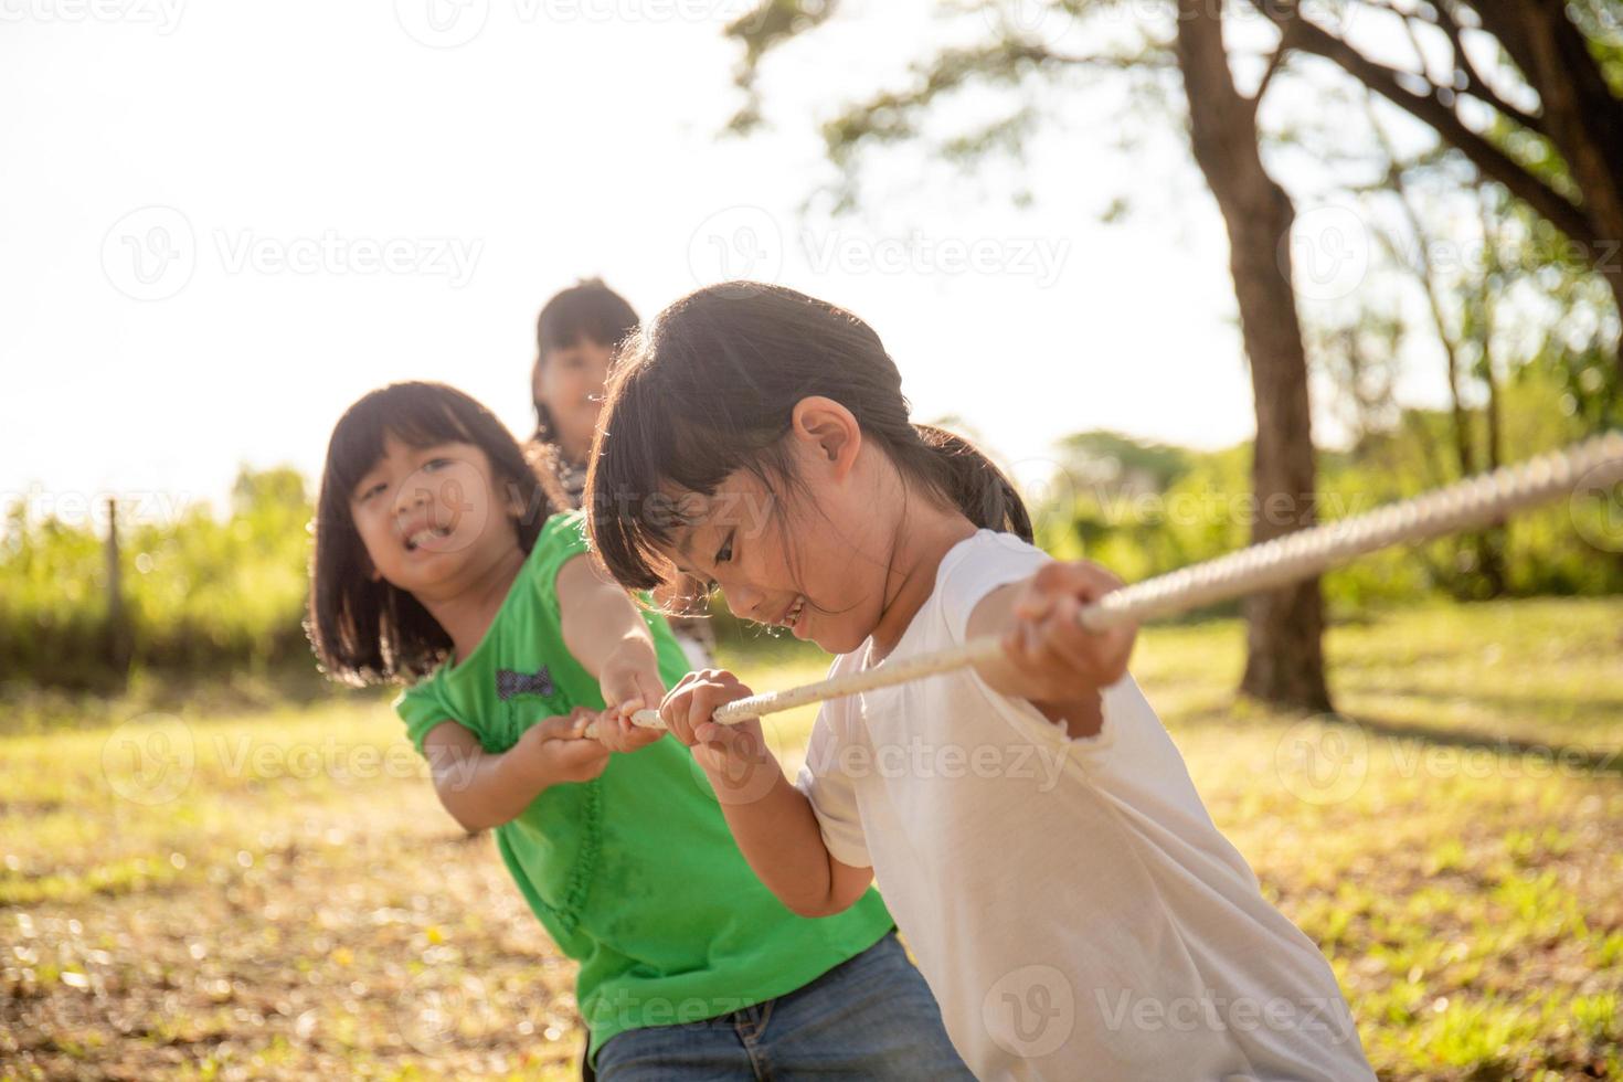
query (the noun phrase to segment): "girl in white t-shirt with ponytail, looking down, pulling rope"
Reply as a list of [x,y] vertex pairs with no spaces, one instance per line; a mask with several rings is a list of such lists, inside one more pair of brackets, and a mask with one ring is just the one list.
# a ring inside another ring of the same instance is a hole
[[826,702],[794,784],[758,722],[709,720],[750,694],[732,673],[672,689],[751,868],[802,915],[876,878],[979,1077],[1373,1077],[1324,957],[1126,675],[1134,633],[1076,623],[1118,582],[1034,548],[1008,480],[907,410],[865,323],[753,282],[670,305],[610,380],[586,506],[623,586],[708,579],[831,673],[1005,646]]

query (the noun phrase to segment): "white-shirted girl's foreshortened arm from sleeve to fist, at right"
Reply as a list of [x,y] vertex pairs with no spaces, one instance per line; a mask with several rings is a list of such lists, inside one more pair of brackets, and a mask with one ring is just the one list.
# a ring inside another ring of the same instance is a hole
[[1029,579],[992,590],[969,615],[966,638],[1001,636],[1003,657],[975,672],[993,691],[1029,699],[1068,735],[1097,736],[1099,691],[1126,673],[1138,629],[1086,631],[1076,616],[1120,586],[1104,568],[1076,560],[1045,563]]

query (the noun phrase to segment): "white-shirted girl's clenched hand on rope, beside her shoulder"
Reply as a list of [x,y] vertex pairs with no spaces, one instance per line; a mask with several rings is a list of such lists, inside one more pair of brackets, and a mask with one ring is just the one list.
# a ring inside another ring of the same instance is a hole
[[1087,631],[1078,620],[1084,605],[1120,586],[1121,579],[1086,560],[1047,563],[1021,584],[1003,652],[1026,698],[1068,702],[1121,680],[1138,628]]

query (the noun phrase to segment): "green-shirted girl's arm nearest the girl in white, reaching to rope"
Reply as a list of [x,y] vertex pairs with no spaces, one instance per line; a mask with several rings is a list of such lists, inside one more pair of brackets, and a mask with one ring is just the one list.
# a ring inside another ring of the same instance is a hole
[[610,714],[597,727],[610,751],[636,751],[659,740],[657,728],[631,725],[630,714],[654,709],[665,694],[654,636],[636,603],[618,584],[602,579],[583,553],[558,568],[558,613],[563,646],[602,685]]

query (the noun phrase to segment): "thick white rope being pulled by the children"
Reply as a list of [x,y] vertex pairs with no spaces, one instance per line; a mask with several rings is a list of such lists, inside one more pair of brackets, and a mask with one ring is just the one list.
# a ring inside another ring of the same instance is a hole
[[[1623,432],[1597,436],[1519,466],[1469,477],[1368,514],[1285,534],[1217,560],[1121,587],[1107,594],[1099,603],[1083,608],[1079,620],[1091,631],[1104,631],[1243,594],[1271,590],[1380,548],[1433,540],[1496,522],[1516,511],[1573,495],[1578,482],[1599,488],[1623,482]],[[995,636],[971,639],[935,654],[883,662],[865,672],[737,699],[717,707],[712,717],[724,725],[735,725],[750,717],[962,668],[977,660],[993,659],[1001,649]],[[636,711],[631,720],[643,728],[665,727],[657,711]],[[586,735],[596,736],[596,727],[592,722]]]

